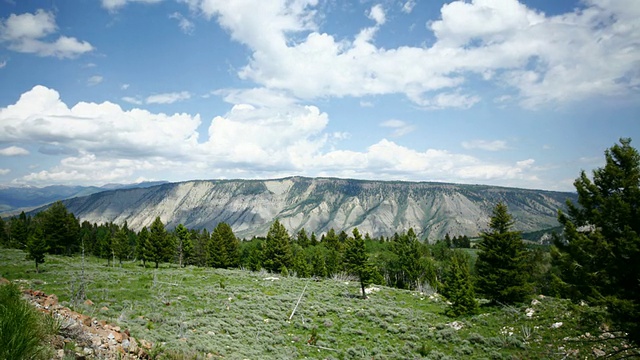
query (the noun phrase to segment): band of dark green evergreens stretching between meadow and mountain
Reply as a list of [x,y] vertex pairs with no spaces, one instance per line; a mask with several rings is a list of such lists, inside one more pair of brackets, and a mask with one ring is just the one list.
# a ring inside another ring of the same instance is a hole
[[357,228],[350,234],[330,229],[319,237],[305,229],[289,234],[275,220],[265,237],[240,241],[226,223],[207,229],[180,224],[167,230],[157,217],[139,232],[127,223],[82,223],[61,202],[35,216],[0,219],[0,245],[21,248],[36,269],[45,254],[79,252],[108,265],[136,260],[157,268],[179,266],[265,269],[286,276],[355,276],[402,289],[432,290],[445,296],[452,316],[478,309],[476,292],[494,304],[514,304],[532,294],[587,301],[607,309],[611,322],[640,343],[640,155],[630,139],[605,151],[605,166],[574,182],[578,203],[559,211],[563,226],[552,246],[528,246],[514,231],[504,203],[493,208],[488,230],[474,250],[466,236],[429,244],[413,229],[371,238]]

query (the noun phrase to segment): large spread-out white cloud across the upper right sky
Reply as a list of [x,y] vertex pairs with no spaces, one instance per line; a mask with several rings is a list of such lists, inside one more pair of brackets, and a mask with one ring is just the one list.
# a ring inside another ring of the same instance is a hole
[[426,108],[468,108],[481,99],[464,85],[480,78],[536,108],[640,86],[635,0],[587,0],[554,16],[517,0],[453,1],[428,24],[432,45],[397,48],[375,44],[380,5],[366,14],[376,26],[336,39],[319,30],[316,0],[265,0],[260,12],[250,1],[185,1],[251,49],[242,79],[300,98],[399,93]]

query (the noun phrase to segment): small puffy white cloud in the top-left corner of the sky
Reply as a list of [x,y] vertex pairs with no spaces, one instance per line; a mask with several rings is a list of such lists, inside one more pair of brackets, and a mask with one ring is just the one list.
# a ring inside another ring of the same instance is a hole
[[35,14],[11,14],[0,20],[0,41],[7,42],[7,47],[13,51],[58,58],[74,58],[93,50],[90,43],[64,35],[53,42],[47,41],[46,38],[57,30],[51,12],[37,10]]

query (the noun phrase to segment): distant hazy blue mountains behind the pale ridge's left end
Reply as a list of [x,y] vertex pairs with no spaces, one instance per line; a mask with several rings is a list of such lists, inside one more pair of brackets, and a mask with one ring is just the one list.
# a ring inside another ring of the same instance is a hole
[[101,187],[65,185],[0,187],[0,213],[11,215],[11,213],[19,212],[22,209],[31,209],[58,200],[91,195],[105,190],[149,187],[165,183],[166,181],[156,181],[136,184],[108,184]]

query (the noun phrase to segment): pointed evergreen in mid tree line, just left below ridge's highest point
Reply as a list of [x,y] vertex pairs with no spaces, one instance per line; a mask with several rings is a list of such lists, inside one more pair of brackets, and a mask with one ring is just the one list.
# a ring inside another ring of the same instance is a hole
[[276,219],[264,242],[264,268],[272,272],[288,269],[293,264],[291,239],[287,229]]

